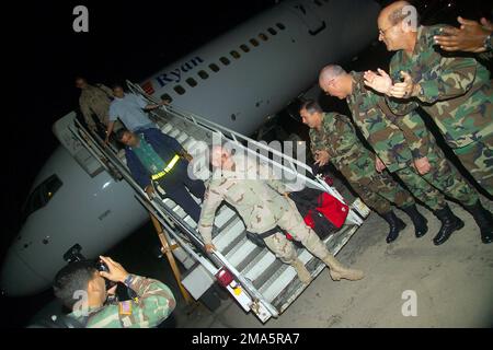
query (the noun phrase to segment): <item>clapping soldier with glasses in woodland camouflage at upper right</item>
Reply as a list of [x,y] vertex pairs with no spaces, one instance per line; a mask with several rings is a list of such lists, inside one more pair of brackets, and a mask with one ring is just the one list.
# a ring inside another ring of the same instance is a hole
[[[387,95],[387,104],[402,116],[422,107],[433,118],[452,151],[477,182],[493,195],[493,86],[488,69],[472,57],[442,54],[434,36],[443,26],[408,26],[406,1],[385,8],[379,39],[398,51],[385,71],[367,72],[365,83]],[[415,9],[414,9],[415,11]],[[392,79],[395,82],[392,83]],[[400,80],[402,82],[399,82]],[[466,206],[481,229],[483,243],[492,242],[491,214],[480,200]],[[480,222],[481,221],[481,222]]]

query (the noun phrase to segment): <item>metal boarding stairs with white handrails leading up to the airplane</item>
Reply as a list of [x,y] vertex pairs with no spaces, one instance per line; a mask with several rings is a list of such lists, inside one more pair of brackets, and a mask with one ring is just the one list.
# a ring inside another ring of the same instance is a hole
[[[134,93],[144,95],[150,103],[158,102],[140,86],[131,82],[127,84]],[[163,133],[175,138],[193,156],[199,154],[205,145],[211,144],[213,138],[219,137],[283,174],[283,182],[289,189],[299,190],[301,184],[324,190],[345,202],[336,189],[313,176],[311,168],[305,163],[263,142],[174,106],[163,106],[152,112],[151,118]],[[246,238],[241,218],[227,203],[219,207],[216,213],[213,243],[217,250],[206,254],[202,236],[196,230],[197,223],[186,213],[186,208],[181,208],[169,198],[162,199],[161,196],[149,199],[131,178],[123,150],[118,152],[115,148],[104,147],[101,139],[90,135],[76,119],[70,130],[105,171],[133,187],[135,197],[159,220],[168,241],[177,247],[173,254],[187,269],[182,283],[195,299],[200,298],[217,281],[245,312],[253,312],[265,323],[271,317],[278,317],[307,288],[299,281],[293,267],[283,264],[267,248],[259,247]],[[197,168],[195,174],[205,179],[206,171],[206,167]],[[163,190],[165,189],[160,189]],[[196,201],[199,203],[198,199]],[[333,255],[342,249],[363,224],[362,218],[369,213],[369,209],[360,200],[352,203],[349,209],[342,229],[324,240]],[[308,250],[297,248],[297,253],[313,278],[323,270],[324,265]]]

